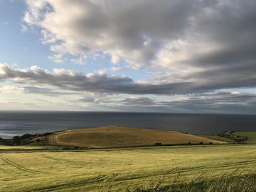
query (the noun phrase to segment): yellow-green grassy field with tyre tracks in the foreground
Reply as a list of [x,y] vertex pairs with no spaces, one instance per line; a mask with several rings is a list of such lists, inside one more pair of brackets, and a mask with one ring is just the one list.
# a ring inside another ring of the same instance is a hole
[[0,147],[0,191],[170,191],[256,174],[256,145],[8,149]]

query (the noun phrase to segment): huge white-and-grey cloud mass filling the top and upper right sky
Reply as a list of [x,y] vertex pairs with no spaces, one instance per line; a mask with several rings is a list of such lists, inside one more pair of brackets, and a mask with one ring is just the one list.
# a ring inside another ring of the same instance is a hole
[[255,1],[26,0],[26,4],[24,21],[41,29],[43,42],[55,53],[50,58],[59,63],[65,54],[78,57],[71,61],[76,64],[83,63],[84,55],[110,55],[113,64],[126,61],[135,70],[161,67],[170,74],[170,82],[177,82],[191,75],[197,79],[198,72],[211,71],[213,65],[215,73],[226,64],[236,72],[241,63],[249,69],[256,60]]

